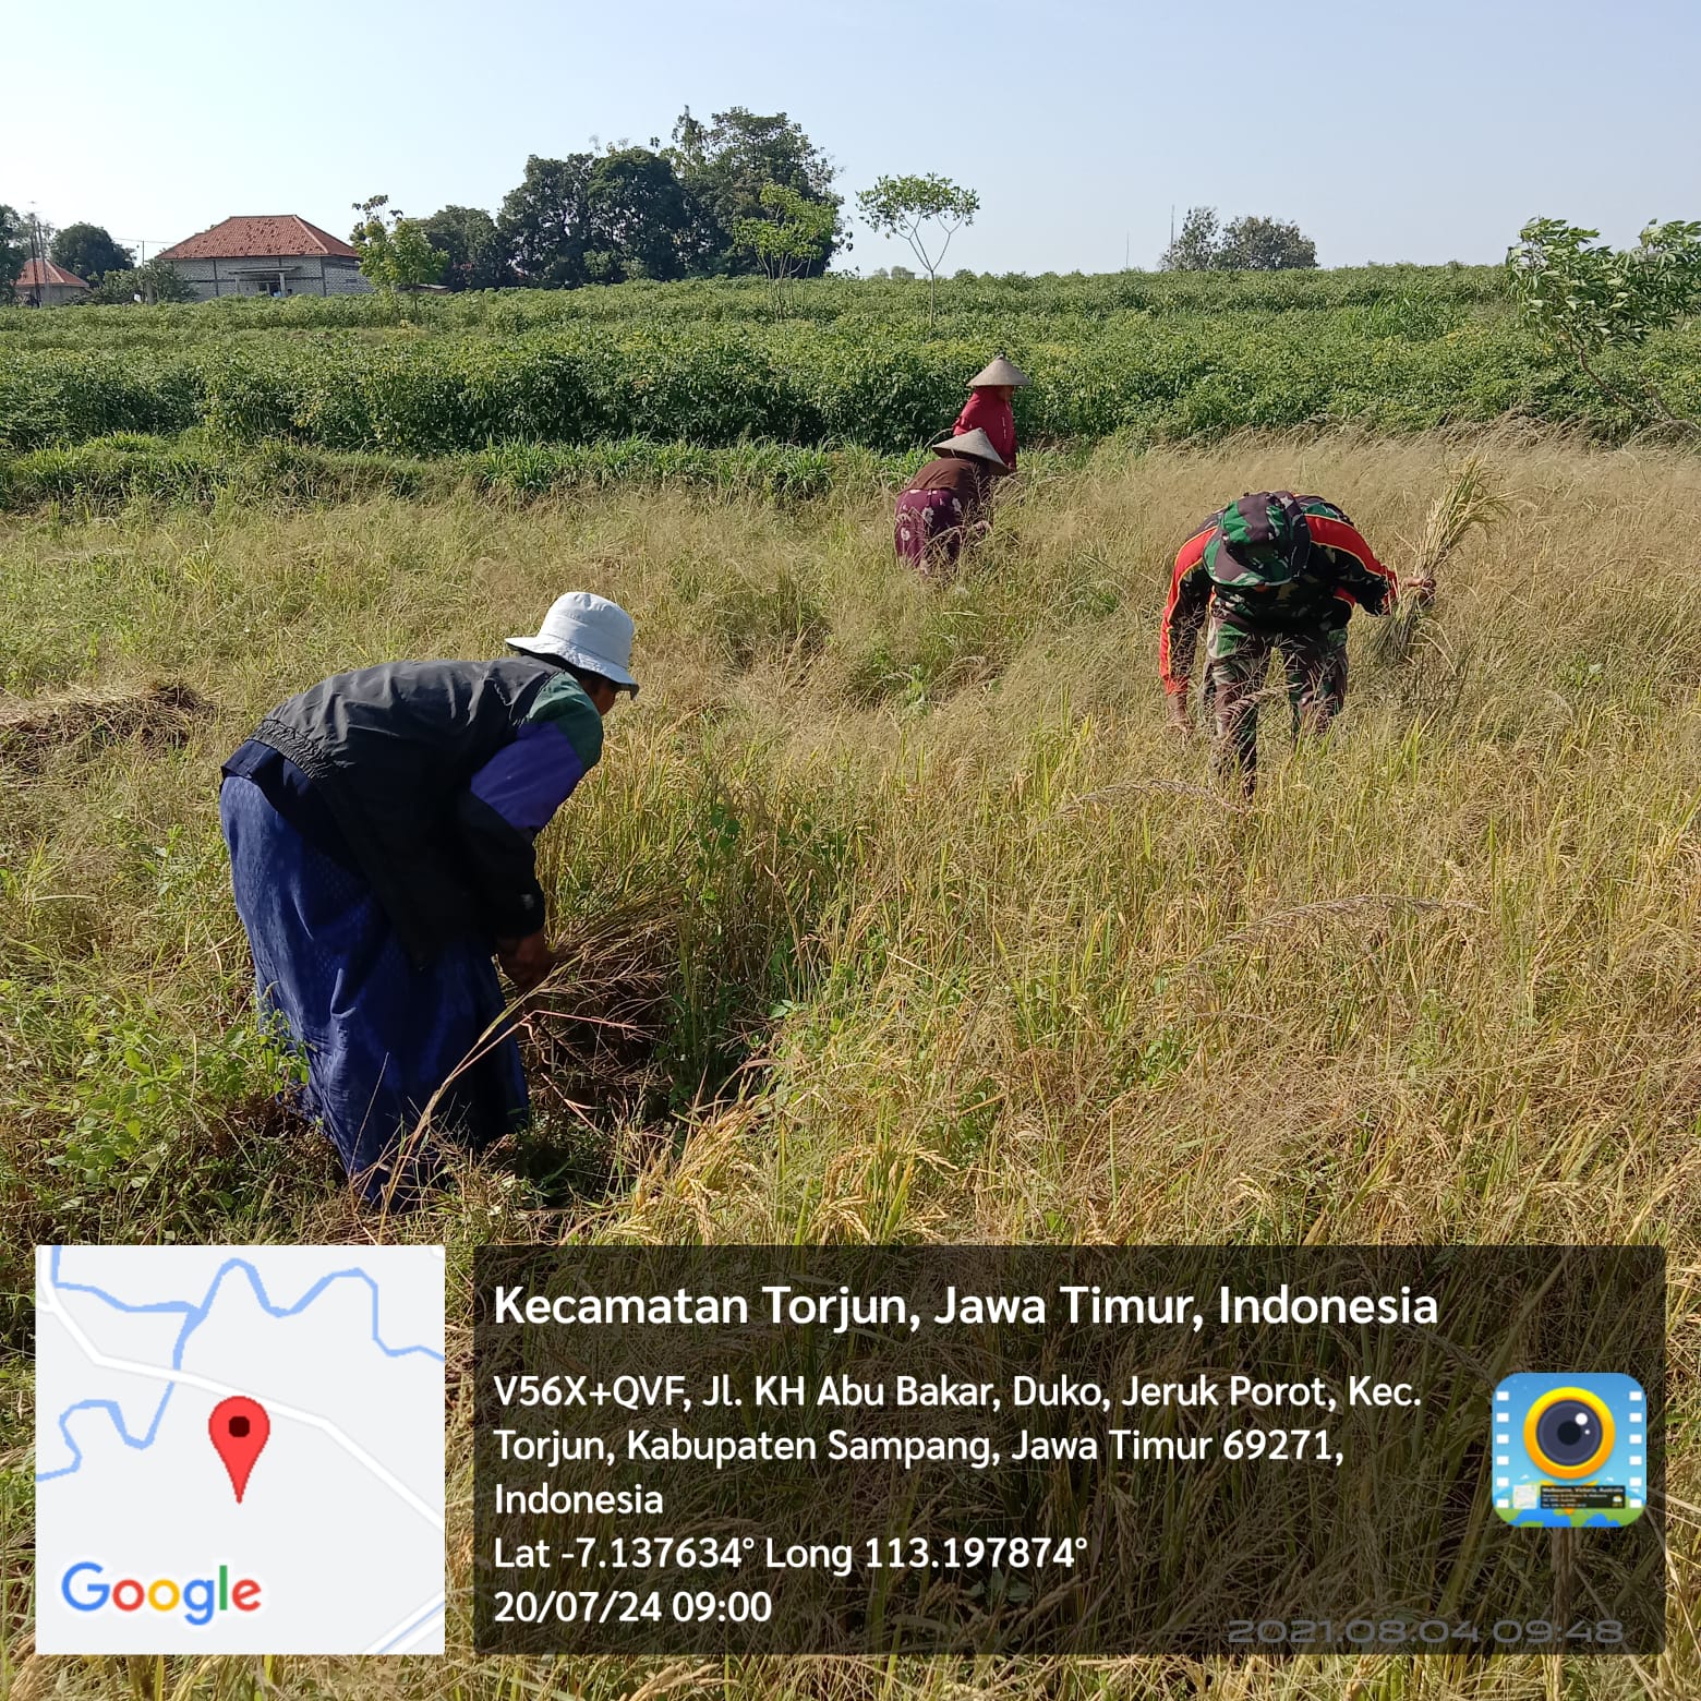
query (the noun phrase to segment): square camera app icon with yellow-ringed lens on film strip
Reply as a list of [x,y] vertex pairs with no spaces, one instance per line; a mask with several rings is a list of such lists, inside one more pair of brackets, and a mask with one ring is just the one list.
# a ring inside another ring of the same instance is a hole
[[1635,1524],[1647,1504],[1648,1402],[1630,1376],[1531,1371],[1493,1391],[1493,1509],[1507,1524]]

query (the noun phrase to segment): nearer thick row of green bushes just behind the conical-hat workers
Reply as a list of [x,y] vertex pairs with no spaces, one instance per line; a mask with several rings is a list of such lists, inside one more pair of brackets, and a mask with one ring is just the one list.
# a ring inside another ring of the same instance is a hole
[[[1422,330],[1400,330],[1383,310],[1342,308],[1010,338],[1010,354],[1034,378],[1017,395],[1017,425],[1029,442],[1340,424],[1422,430],[1507,413],[1584,422],[1604,435],[1633,425],[1504,320]],[[170,354],[0,349],[0,441],[34,449],[206,427],[235,444],[401,456],[621,437],[900,452],[949,429],[985,354],[985,344],[966,340],[847,337],[806,325],[338,337]],[[1701,330],[1672,333],[1647,357],[1687,390],[1701,373]]]

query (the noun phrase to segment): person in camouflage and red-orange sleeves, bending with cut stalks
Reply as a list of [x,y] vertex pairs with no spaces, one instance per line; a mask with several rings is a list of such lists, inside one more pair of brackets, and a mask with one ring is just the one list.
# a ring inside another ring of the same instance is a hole
[[1187,682],[1203,629],[1211,765],[1250,796],[1271,658],[1281,658],[1294,735],[1322,731],[1345,703],[1354,604],[1386,614],[1397,590],[1395,575],[1322,497],[1264,490],[1221,509],[1182,544],[1170,577],[1158,638],[1170,725],[1192,730]]

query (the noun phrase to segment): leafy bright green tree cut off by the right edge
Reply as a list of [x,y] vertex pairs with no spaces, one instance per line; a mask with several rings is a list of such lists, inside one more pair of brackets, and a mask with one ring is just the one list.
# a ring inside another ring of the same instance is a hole
[[1611,401],[1648,422],[1694,429],[1647,379],[1633,378],[1638,396],[1626,395],[1597,362],[1607,349],[1636,347],[1701,311],[1701,223],[1648,225],[1623,250],[1599,236],[1565,219],[1531,219],[1505,257],[1517,316]]

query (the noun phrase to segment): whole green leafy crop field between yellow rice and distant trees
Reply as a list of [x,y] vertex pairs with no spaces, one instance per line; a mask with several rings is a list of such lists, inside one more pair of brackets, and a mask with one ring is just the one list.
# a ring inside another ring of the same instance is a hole
[[[903,452],[1007,349],[1036,444],[1216,441],[1247,429],[1429,430],[1505,417],[1624,437],[1635,420],[1509,315],[1493,269],[1114,274],[924,284],[757,281],[0,315],[0,492],[29,451],[114,432],[228,451],[454,458],[606,439]],[[1633,359],[1701,412],[1701,332]],[[1614,378],[1621,361],[1607,359]],[[163,461],[168,451],[155,454]]]

